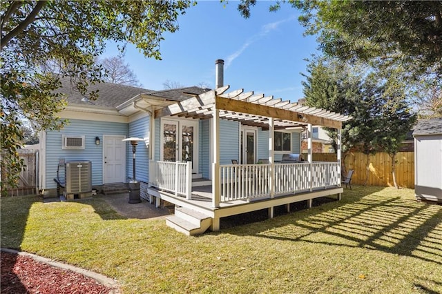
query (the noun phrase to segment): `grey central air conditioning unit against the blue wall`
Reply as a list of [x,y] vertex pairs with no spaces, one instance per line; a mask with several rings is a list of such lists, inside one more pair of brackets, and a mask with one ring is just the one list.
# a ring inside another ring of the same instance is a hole
[[92,191],[92,164],[90,161],[66,161],[66,194]]

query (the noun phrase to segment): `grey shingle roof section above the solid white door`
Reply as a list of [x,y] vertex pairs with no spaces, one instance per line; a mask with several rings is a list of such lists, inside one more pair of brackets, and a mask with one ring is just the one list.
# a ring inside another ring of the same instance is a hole
[[108,108],[115,108],[124,101],[135,97],[141,93],[153,92],[153,90],[137,88],[133,86],[125,86],[111,83],[99,83],[88,86],[88,92],[98,91],[99,97],[95,101],[88,101],[84,96],[74,88],[69,78],[60,79],[61,88],[57,90],[59,93],[66,94],[69,104],[85,104],[90,106],[102,106]]

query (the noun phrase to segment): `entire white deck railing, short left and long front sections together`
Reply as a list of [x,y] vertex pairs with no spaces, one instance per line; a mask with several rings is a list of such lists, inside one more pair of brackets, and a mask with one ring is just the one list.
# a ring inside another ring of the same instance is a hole
[[[151,161],[149,185],[191,199],[191,162]],[[220,201],[273,197],[340,185],[337,162],[220,166]],[[273,179],[273,181],[271,180]],[[273,186],[271,182],[274,182]]]

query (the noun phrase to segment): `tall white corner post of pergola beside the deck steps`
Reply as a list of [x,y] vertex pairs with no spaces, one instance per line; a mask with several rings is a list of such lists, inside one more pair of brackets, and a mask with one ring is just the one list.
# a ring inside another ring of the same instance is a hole
[[[215,97],[215,99],[216,98],[217,97]],[[220,187],[220,110],[218,110],[216,106],[213,108],[212,134],[213,134],[212,135],[213,138],[212,206],[213,208],[217,208],[220,207],[221,187]]]

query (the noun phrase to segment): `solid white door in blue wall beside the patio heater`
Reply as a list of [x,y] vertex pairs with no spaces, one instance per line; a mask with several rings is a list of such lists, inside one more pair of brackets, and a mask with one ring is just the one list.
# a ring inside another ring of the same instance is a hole
[[103,184],[126,182],[126,142],[124,136],[103,136]]

